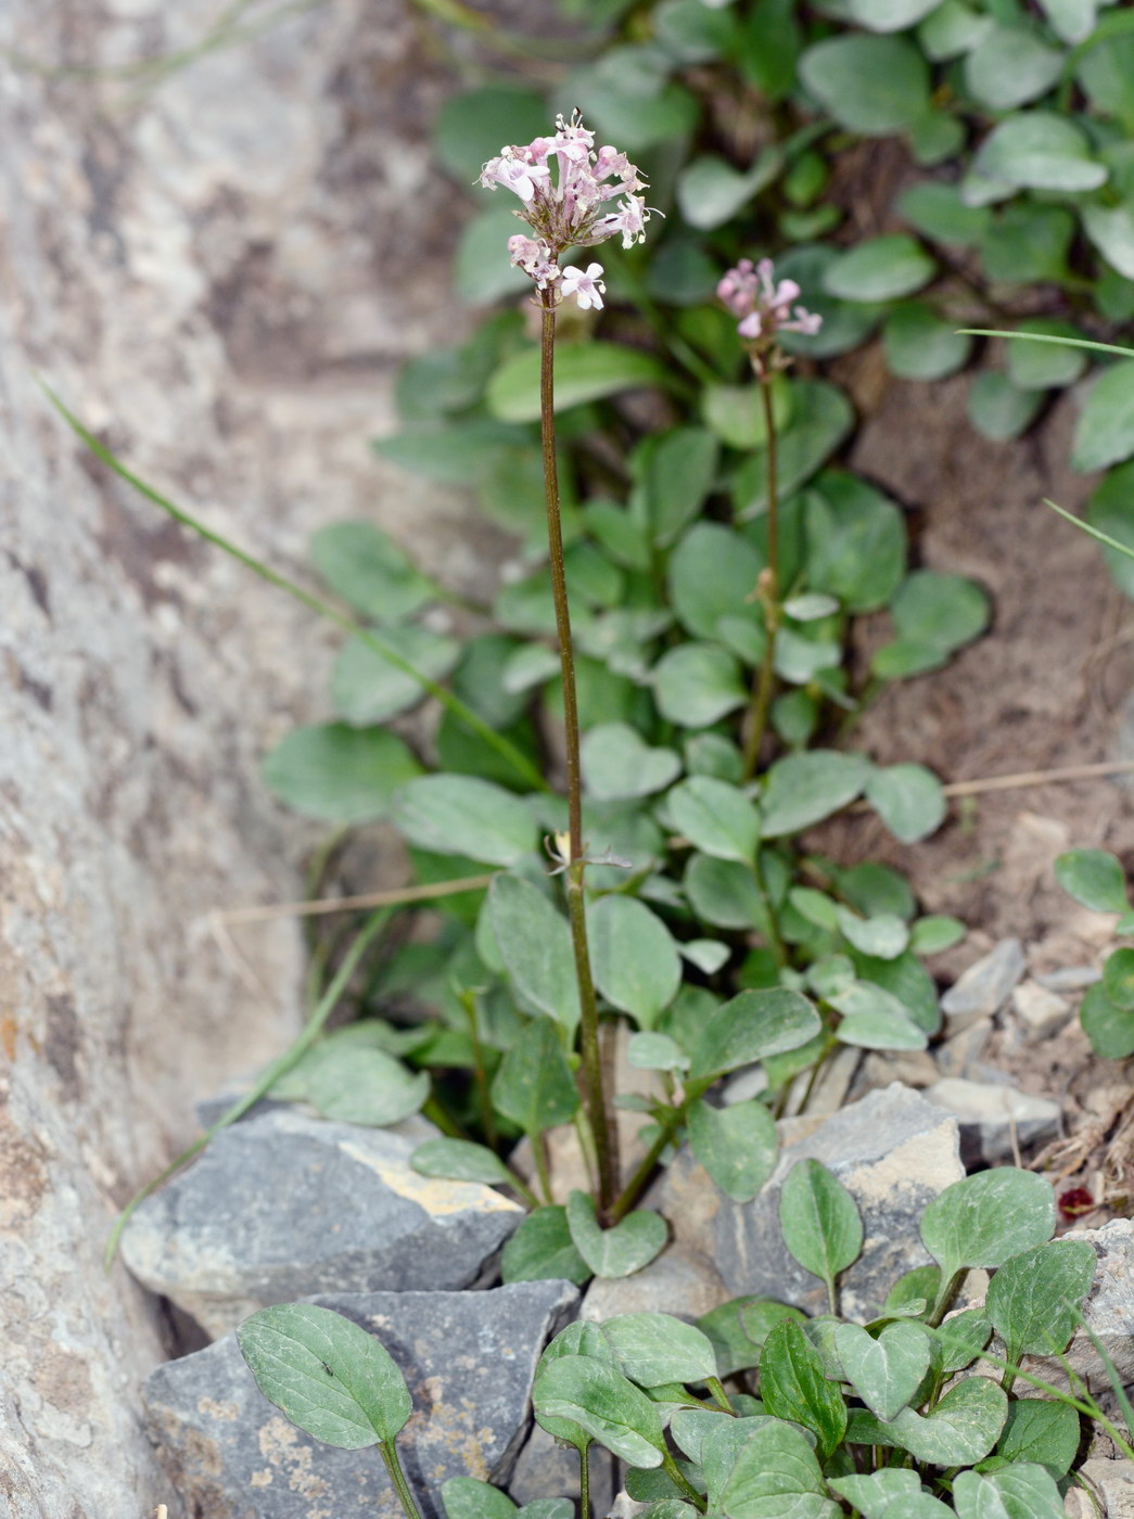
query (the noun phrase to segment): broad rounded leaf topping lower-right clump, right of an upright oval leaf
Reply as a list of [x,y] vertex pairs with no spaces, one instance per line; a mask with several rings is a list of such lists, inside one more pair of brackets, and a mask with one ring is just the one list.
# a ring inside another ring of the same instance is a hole
[[1055,1200],[1035,1171],[1002,1167],[953,1182],[921,1215],[921,1243],[949,1282],[965,1267],[994,1267],[1050,1240]]

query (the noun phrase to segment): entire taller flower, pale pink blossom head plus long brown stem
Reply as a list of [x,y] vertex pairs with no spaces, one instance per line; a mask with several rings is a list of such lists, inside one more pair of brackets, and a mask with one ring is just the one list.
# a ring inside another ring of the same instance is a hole
[[[555,441],[555,317],[558,307],[573,296],[582,310],[602,310],[605,286],[602,264],[588,263],[562,269],[559,260],[569,248],[594,248],[608,237],[622,235],[623,248],[645,237],[649,210],[638,194],[645,181],[625,153],[614,147],[594,149],[578,111],[567,122],[556,122],[553,137],[537,137],[526,144],[503,147],[485,164],[480,184],[486,190],[503,185],[521,202],[515,213],[535,234],[517,232],[508,240],[512,263],[535,286],[540,307],[540,424],[543,444],[544,495],[547,503],[547,550],[555,602],[555,630],[562,673],[562,708],[567,767],[567,834],[556,835],[556,851],[567,887],[567,914],[579,986],[579,1044],[582,1086],[594,1139],[599,1197],[597,1209],[607,1218],[619,1192],[617,1130],[611,1112],[610,1072],[603,1069],[599,1045],[599,1012],[587,943],[587,902],[584,876],[587,843],[582,831],[582,767],[579,763],[579,706],[575,682],[572,615],[562,550],[559,513],[559,475]],[[608,202],[617,201],[614,210]]]

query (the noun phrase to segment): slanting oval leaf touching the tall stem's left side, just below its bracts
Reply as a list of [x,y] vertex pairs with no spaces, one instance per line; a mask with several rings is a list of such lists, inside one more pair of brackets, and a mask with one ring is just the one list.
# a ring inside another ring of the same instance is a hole
[[579,1027],[572,931],[538,886],[499,875],[488,892],[496,945],[520,995],[564,1028]]

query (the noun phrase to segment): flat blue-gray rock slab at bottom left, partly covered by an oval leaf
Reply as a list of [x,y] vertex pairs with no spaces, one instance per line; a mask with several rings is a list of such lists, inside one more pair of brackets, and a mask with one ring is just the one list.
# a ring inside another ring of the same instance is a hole
[[[426,1519],[450,1476],[503,1483],[527,1432],[535,1366],[573,1315],[570,1282],[486,1293],[328,1293],[401,1367],[413,1414],[401,1464]],[[144,1385],[149,1432],[185,1511],[202,1519],[404,1519],[375,1448],[336,1451],[271,1404],[236,1335],[169,1361]]]

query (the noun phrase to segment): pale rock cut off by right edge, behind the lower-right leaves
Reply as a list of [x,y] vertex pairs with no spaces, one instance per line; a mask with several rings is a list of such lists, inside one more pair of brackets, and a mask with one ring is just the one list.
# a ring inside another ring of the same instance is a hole
[[[1102,1229],[1072,1229],[1064,1240],[1085,1240],[1098,1256],[1094,1285],[1082,1305],[1082,1317],[1114,1363],[1123,1387],[1134,1384],[1134,1223],[1111,1218]],[[1078,1329],[1067,1350],[1072,1370],[1098,1394],[1110,1391],[1110,1379],[1090,1335]],[[1066,1387],[1067,1378],[1055,1360],[1026,1356],[1035,1376]]]

